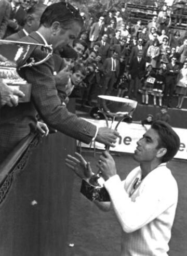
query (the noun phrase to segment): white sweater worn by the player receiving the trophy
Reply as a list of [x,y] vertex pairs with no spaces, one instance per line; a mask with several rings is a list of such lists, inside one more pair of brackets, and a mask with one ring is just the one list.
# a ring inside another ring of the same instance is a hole
[[178,201],[177,182],[165,163],[133,191],[137,178],[141,180],[140,167],[123,182],[114,175],[104,183],[122,227],[121,256],[167,256]]

